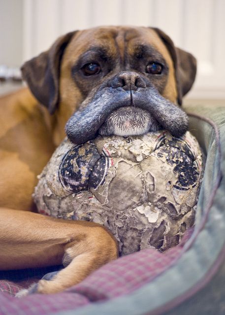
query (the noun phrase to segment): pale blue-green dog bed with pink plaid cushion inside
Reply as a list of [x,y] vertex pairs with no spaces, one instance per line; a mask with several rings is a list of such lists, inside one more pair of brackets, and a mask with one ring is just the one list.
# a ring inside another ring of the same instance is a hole
[[225,107],[186,110],[207,159],[195,225],[182,242],[121,257],[52,295],[13,296],[56,267],[0,272],[0,314],[225,314]]

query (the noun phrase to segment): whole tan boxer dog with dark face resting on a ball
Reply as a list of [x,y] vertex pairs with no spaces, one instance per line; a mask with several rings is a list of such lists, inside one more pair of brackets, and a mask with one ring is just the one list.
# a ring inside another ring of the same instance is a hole
[[181,136],[188,118],[179,105],[195,72],[191,54],[145,27],[70,32],[22,66],[29,89],[0,99],[0,270],[64,263],[35,286],[55,293],[117,258],[104,227],[35,213],[36,176],[65,133],[76,144],[161,128]]

